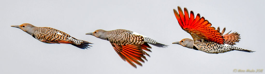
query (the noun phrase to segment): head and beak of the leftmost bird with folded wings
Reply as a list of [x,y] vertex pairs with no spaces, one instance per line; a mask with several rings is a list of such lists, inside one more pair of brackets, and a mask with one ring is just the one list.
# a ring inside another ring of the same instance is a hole
[[21,24],[21,25],[12,25],[11,27],[16,27],[16,28],[19,28],[25,32],[27,32],[28,34],[32,34],[34,32],[34,30],[36,29],[35,26],[31,25],[31,24],[28,24],[28,23],[24,23],[24,24]]

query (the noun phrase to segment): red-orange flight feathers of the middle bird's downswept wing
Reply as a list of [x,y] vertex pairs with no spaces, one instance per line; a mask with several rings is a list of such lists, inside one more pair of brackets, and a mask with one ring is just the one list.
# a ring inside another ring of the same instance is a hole
[[135,68],[136,68],[136,65],[134,63],[142,66],[142,64],[139,61],[144,62],[143,59],[147,60],[144,55],[148,55],[148,54],[146,52],[144,52],[142,49],[150,51],[149,49],[147,49],[147,46],[149,46],[149,45],[145,45],[145,46],[140,45],[140,44],[117,45],[115,43],[112,43],[112,46],[113,46],[114,50],[117,52],[117,54],[124,61],[127,61],[129,64],[131,64]]

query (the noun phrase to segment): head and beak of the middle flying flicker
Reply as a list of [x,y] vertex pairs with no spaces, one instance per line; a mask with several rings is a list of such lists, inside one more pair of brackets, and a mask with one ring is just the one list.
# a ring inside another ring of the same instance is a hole
[[108,31],[105,30],[96,30],[93,33],[87,33],[86,35],[93,35],[97,38],[103,39],[103,40],[107,40],[107,36],[108,36]]

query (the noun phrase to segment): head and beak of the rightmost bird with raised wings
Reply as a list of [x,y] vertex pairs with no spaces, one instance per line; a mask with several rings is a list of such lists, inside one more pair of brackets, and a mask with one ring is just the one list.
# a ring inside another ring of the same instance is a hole
[[172,44],[179,44],[179,45],[182,45],[184,47],[188,47],[188,48],[192,49],[193,48],[193,43],[194,43],[194,40],[186,38],[186,39],[182,39],[179,42],[174,42]]

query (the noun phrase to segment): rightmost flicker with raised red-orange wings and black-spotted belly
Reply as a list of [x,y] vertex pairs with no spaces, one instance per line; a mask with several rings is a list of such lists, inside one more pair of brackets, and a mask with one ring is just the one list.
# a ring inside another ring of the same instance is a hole
[[211,27],[211,23],[208,20],[205,20],[204,17],[200,17],[200,14],[197,14],[194,18],[194,14],[191,11],[190,17],[188,10],[184,8],[184,14],[180,7],[178,7],[178,12],[174,10],[175,16],[179,22],[180,27],[189,33],[192,39],[182,39],[179,42],[174,42],[172,44],[179,44],[184,47],[188,47],[195,50],[200,50],[210,54],[224,53],[232,50],[244,51],[244,52],[254,52],[251,50],[245,50],[239,47],[232,46],[235,42],[238,42],[240,39],[238,33],[227,33],[222,35],[220,29],[215,30],[214,27]]

